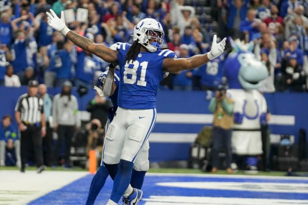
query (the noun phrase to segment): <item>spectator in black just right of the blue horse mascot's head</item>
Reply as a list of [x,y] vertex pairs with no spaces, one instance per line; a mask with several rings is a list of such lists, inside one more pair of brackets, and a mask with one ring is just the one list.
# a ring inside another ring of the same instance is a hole
[[285,70],[287,89],[289,91],[306,91],[306,76],[302,67],[297,62],[296,54],[288,57],[288,66]]

